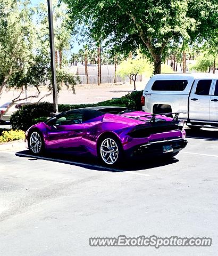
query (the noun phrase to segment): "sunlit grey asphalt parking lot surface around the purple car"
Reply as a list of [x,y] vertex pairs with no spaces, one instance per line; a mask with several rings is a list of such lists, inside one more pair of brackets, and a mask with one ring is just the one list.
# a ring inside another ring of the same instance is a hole
[[[96,159],[1,151],[0,255],[217,255],[218,131],[105,168]],[[210,247],[90,247],[89,237],[211,237]]]

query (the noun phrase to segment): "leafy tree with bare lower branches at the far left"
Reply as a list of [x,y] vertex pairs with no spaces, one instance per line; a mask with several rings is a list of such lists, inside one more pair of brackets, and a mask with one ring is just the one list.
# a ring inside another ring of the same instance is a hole
[[[18,101],[39,98],[39,86],[51,81],[48,37],[33,23],[33,10],[28,4],[28,1],[13,0],[0,3],[0,97],[5,89],[20,90],[4,114]],[[63,82],[75,93],[74,85],[78,79],[64,70],[57,70],[58,90]],[[38,93],[22,98],[21,94],[28,86],[35,86]],[[47,89],[46,95],[51,94],[51,83]]]

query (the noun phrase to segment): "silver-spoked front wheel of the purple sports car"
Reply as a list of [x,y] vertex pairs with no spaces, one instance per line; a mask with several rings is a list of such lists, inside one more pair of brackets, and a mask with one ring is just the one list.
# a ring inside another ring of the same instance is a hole
[[31,153],[40,155],[44,151],[43,136],[38,131],[33,131],[28,138],[28,146]]

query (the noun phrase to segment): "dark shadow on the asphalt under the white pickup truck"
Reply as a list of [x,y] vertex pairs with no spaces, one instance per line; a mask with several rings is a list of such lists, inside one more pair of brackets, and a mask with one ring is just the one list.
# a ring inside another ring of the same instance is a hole
[[202,139],[202,140],[218,140],[218,129],[208,129],[195,131],[192,129],[186,130],[186,138]]

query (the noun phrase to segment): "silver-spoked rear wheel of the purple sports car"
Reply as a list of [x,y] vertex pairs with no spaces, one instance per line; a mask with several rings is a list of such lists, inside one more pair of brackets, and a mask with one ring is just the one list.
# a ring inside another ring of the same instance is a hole
[[120,163],[123,157],[123,149],[120,141],[112,135],[104,137],[99,143],[98,156],[107,165]]

